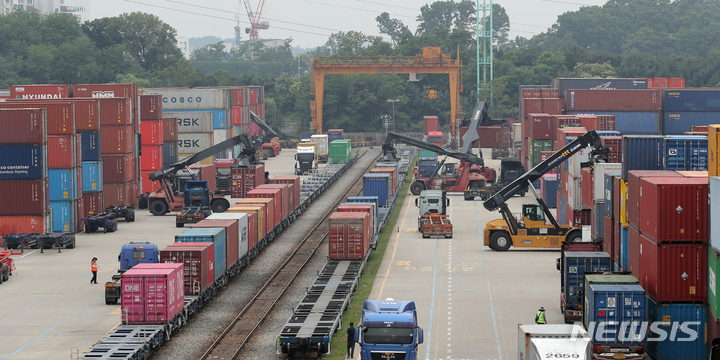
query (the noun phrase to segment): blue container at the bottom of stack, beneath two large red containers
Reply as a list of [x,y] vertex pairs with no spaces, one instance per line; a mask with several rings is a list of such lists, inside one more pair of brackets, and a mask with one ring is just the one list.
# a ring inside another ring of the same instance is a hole
[[[707,359],[707,306],[704,304],[657,304],[648,299],[650,323],[663,322],[648,335],[648,353],[655,360]],[[664,336],[663,333],[664,332]],[[663,341],[653,341],[662,339]]]

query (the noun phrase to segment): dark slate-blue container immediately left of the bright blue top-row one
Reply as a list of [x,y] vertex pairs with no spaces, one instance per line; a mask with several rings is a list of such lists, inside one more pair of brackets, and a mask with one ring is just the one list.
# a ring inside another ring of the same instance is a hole
[[623,135],[623,180],[630,170],[664,170],[665,137]]

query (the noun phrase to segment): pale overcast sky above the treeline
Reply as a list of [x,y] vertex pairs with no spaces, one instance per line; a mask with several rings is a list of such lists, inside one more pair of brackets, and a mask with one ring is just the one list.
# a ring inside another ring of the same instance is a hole
[[[90,17],[117,16],[126,12],[152,13],[174,27],[179,37],[217,36],[233,38],[240,10],[240,26],[249,26],[241,0],[89,0]],[[253,11],[260,0],[249,0]],[[490,0],[486,0],[489,4]],[[260,30],[264,39],[293,38],[293,46],[315,47],[324,44],[330,34],[361,31],[381,35],[375,17],[387,12],[412,31],[417,27],[420,7],[426,0],[266,0],[262,19],[270,28]],[[480,0],[482,4],[482,0]],[[603,0],[511,0],[496,1],[510,17],[510,37],[532,37],[545,31],[557,16],[581,6],[602,5]],[[238,9],[240,7],[240,9]],[[242,39],[248,35],[242,34]]]

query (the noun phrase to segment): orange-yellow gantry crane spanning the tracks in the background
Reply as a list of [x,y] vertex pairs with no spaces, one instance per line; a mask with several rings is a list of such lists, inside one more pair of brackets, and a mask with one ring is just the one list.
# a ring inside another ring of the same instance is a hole
[[[460,47],[458,46],[458,54]],[[450,133],[451,143],[457,144],[456,133],[460,92],[462,85],[462,61],[452,60],[450,54],[442,54],[439,47],[425,47],[415,56],[323,56],[310,63],[315,79],[315,100],[310,101],[312,123],[310,127],[322,134],[322,106],[325,74],[448,74],[450,78]]]

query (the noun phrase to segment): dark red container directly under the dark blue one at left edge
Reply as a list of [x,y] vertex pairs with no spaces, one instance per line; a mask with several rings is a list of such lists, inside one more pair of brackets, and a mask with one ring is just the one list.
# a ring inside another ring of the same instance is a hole
[[44,215],[50,206],[48,180],[1,180],[0,215]]

